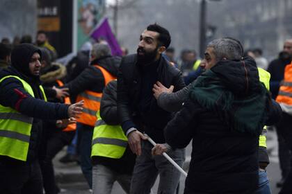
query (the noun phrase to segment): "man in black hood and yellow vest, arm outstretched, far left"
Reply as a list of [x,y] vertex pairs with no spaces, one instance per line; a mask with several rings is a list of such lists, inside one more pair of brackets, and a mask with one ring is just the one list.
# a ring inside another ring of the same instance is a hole
[[83,102],[45,102],[39,80],[41,56],[32,44],[19,44],[11,53],[11,66],[0,72],[1,193],[42,193],[39,160],[46,150],[42,120],[81,114]]

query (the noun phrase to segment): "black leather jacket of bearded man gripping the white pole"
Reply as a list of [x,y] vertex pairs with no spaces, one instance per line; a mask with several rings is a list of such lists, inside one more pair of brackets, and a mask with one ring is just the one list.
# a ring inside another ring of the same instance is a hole
[[[137,56],[127,55],[122,59],[119,73],[117,76],[117,111],[124,132],[129,130],[129,125],[124,126],[126,122],[131,122],[131,127],[137,127],[138,130],[146,132],[157,143],[164,143],[163,128],[172,118],[170,112],[161,109],[152,96],[150,102],[151,111],[144,113],[138,111],[139,100],[141,98],[141,85],[143,82],[142,67],[137,62]],[[175,86],[175,91],[182,89],[185,84],[181,72],[173,67],[167,60],[160,58],[157,67],[157,81],[165,87]]]

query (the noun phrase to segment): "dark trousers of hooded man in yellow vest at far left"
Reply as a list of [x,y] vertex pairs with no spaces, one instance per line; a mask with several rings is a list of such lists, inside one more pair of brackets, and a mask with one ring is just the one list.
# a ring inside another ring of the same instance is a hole
[[42,194],[42,175],[38,160],[31,163],[0,161],[1,194]]

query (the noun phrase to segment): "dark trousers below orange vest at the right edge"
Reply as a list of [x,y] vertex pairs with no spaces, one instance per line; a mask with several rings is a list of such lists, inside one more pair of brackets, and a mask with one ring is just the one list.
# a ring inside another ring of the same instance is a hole
[[[283,116],[281,121],[277,123],[276,127],[278,130],[278,133],[283,136],[284,141],[286,145],[288,146],[290,152],[292,151],[292,116],[289,114],[286,114],[283,112]],[[290,169],[291,169],[291,164],[290,162]],[[292,172],[289,170],[288,175],[286,176],[284,185],[279,193],[284,194],[284,193],[292,193]]]

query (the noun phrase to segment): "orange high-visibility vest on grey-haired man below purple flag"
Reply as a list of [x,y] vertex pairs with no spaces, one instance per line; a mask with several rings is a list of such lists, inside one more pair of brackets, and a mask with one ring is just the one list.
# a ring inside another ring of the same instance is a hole
[[[111,80],[116,79],[115,76],[112,76],[111,73],[108,73],[103,67],[98,65],[94,65],[94,67],[102,71],[105,86],[108,82],[111,82]],[[102,100],[102,92],[86,90],[79,94],[76,100],[84,100],[82,114],[77,118],[77,122],[94,127],[95,121],[97,121],[96,114],[100,107],[100,100]]]

